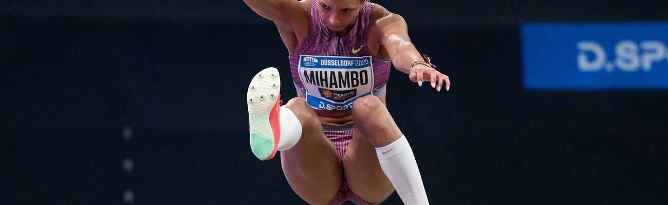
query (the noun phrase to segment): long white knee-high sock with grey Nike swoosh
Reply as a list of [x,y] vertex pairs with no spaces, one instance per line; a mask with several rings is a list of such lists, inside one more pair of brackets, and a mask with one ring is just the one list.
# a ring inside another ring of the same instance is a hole
[[429,204],[422,184],[422,176],[415,162],[413,150],[405,136],[387,146],[375,148],[380,167],[392,182],[404,204]]

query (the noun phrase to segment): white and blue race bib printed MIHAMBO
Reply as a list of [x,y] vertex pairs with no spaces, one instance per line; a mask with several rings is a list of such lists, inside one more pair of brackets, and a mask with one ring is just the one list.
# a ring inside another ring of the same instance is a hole
[[371,56],[300,55],[299,78],[306,102],[318,110],[349,110],[359,97],[373,91]]

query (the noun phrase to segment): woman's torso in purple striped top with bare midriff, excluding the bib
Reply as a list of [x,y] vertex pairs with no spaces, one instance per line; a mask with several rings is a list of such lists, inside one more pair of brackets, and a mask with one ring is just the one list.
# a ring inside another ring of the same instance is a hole
[[[385,16],[383,8],[378,5],[367,3],[359,12],[357,22],[348,33],[337,37],[329,32],[329,29],[317,21],[319,17],[315,2],[305,0],[299,2],[303,13],[295,13],[296,17],[291,19],[292,25],[277,25],[283,43],[288,49],[291,61],[293,80],[297,87],[297,93],[305,97],[305,87],[299,77],[299,59],[302,55],[331,56],[335,57],[370,57],[373,64],[373,87],[372,91],[379,91],[387,82],[389,75],[389,61],[387,52],[380,45],[380,35],[375,21]],[[377,8],[373,8],[377,6]],[[312,83],[312,82],[311,82]],[[313,91],[309,92],[312,93]],[[381,93],[380,95],[378,95]],[[385,101],[385,92],[374,93]],[[322,124],[352,124],[351,110],[327,110],[315,109],[320,116]]]

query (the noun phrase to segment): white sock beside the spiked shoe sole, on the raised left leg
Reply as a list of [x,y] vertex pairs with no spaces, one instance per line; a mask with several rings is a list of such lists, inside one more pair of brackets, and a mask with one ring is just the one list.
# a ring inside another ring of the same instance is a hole
[[299,138],[301,138],[301,123],[295,112],[285,106],[281,106],[279,120],[281,121],[281,140],[279,140],[278,150],[285,151],[299,142]]

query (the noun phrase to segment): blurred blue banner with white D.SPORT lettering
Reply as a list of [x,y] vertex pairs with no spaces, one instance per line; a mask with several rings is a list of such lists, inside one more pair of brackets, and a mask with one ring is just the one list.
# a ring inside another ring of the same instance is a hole
[[524,88],[668,89],[668,23],[524,23]]

